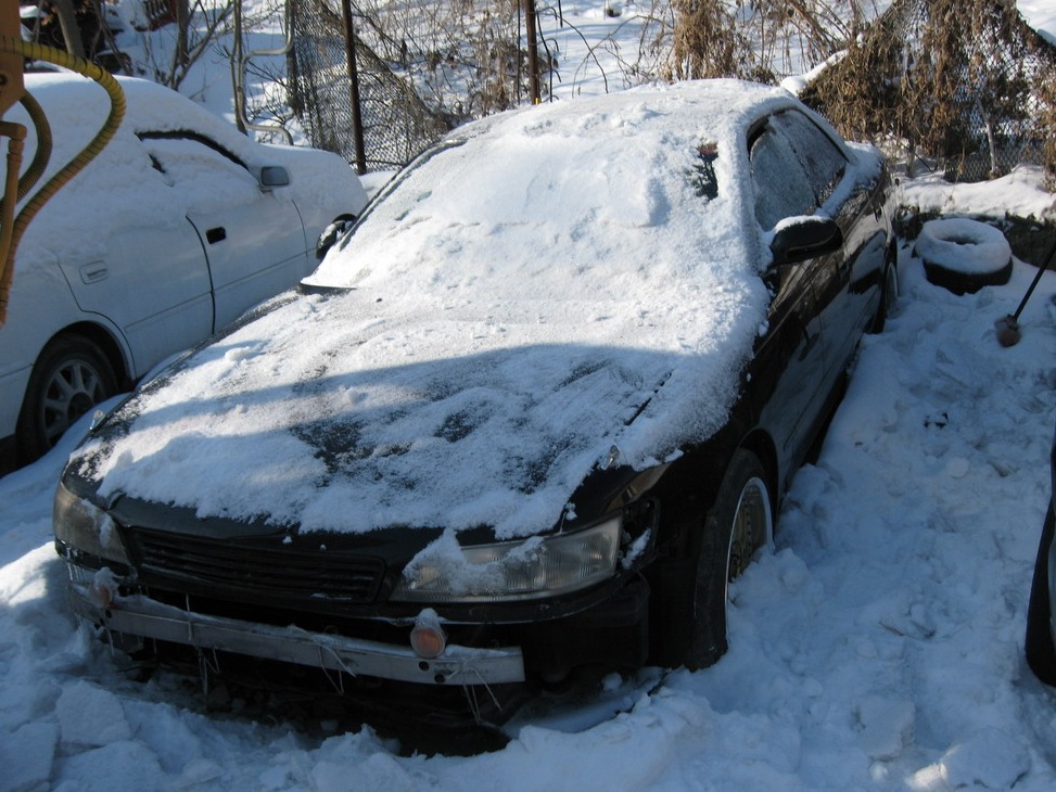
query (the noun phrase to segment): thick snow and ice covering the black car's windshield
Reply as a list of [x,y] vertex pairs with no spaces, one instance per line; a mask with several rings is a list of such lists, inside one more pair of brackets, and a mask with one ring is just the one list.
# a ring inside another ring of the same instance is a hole
[[685,115],[548,110],[474,125],[423,157],[308,283],[537,296],[560,284],[568,298],[752,258],[730,157],[698,125],[679,128]]

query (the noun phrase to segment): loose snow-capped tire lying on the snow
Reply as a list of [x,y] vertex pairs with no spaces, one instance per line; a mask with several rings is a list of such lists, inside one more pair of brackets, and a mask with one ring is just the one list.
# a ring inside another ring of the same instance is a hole
[[954,294],[975,294],[1012,277],[1012,247],[1005,235],[978,220],[962,217],[929,220],[914,253],[931,283]]

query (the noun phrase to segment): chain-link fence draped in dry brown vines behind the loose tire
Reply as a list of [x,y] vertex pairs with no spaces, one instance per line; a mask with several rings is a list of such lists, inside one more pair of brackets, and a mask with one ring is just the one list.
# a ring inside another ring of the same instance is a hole
[[1046,165],[1056,50],[996,0],[894,0],[804,95],[849,137],[980,181]]

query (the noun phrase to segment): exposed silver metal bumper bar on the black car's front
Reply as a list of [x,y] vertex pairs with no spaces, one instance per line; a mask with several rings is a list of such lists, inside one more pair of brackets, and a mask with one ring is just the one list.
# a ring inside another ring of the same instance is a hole
[[441,656],[425,660],[409,647],[202,615],[141,595],[114,597],[102,605],[98,591],[77,582],[71,583],[69,599],[78,616],[106,630],[198,649],[434,686],[524,681],[519,648],[448,646]]

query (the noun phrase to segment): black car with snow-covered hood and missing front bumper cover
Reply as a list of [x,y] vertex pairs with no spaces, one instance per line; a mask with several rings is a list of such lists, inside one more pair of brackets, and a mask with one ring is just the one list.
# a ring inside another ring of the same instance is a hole
[[480,710],[707,666],[896,294],[889,189],[876,150],[738,81],[456,130],[297,296],[73,454],[76,612]]

